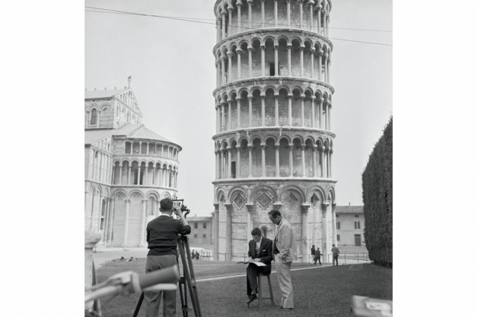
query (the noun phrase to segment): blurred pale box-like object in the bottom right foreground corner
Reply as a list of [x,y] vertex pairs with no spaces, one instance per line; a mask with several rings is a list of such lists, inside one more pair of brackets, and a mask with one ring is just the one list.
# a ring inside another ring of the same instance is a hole
[[364,296],[351,297],[352,317],[392,317],[393,301]]

